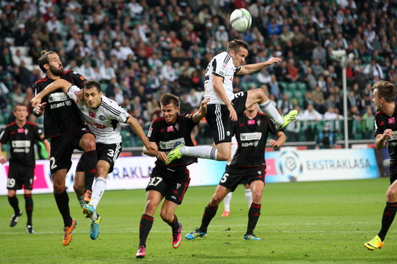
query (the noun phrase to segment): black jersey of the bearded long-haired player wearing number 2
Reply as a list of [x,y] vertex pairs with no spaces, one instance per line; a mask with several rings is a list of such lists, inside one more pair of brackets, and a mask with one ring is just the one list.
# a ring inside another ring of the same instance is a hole
[[[82,88],[85,78],[76,71],[64,71],[60,78]],[[38,80],[33,85],[35,94],[40,93],[47,85],[54,82],[48,77]],[[53,91],[43,98],[42,103],[47,103],[44,108],[44,132],[47,138],[58,137],[78,127],[84,127],[81,112],[74,100],[64,94],[62,89]]]

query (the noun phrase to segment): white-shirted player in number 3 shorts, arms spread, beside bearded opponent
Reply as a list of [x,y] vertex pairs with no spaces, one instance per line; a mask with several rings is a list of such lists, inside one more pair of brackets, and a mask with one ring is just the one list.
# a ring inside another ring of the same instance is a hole
[[[146,149],[157,150],[155,143],[149,142],[142,127],[133,116],[130,116],[114,100],[103,96],[101,85],[95,80],[89,80],[83,85],[84,100],[78,100],[80,89],[76,85],[71,85],[67,80],[56,80],[43,89],[40,94],[31,100],[33,107],[40,103],[42,98],[52,91],[62,89],[62,91],[72,100],[76,101],[78,108],[83,114],[83,118],[90,130],[96,137],[96,150],[98,164],[96,164],[96,181],[92,188],[91,201],[88,204],[81,201],[83,213],[87,218],[91,218],[90,238],[96,239],[99,235],[99,223],[101,216],[96,213],[96,206],[105,191],[106,177],[111,173],[117,157],[121,152],[120,123],[127,123],[140,137]],[[84,190],[84,170],[83,160],[78,161],[76,168],[76,179],[74,189],[76,193]]]

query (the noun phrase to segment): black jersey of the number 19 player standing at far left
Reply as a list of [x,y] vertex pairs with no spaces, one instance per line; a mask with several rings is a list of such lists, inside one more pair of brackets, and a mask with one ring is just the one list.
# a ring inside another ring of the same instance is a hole
[[35,166],[35,141],[44,141],[44,134],[31,122],[23,127],[10,123],[0,134],[0,143],[10,143],[10,161],[24,166]]

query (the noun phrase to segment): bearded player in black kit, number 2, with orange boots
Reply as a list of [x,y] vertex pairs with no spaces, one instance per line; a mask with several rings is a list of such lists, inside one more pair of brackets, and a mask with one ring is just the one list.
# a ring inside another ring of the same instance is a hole
[[[40,93],[47,85],[58,79],[64,79],[78,87],[83,87],[85,78],[76,71],[63,71],[62,62],[60,62],[57,53],[42,51],[38,63],[46,76],[33,85],[35,94]],[[76,220],[72,219],[70,215],[65,177],[71,167],[71,155],[74,150],[83,150],[87,197],[84,197],[84,193],[82,193],[79,199],[90,199],[96,168],[95,137],[83,123],[83,118],[81,118],[81,113],[74,100],[70,100],[62,90],[53,91],[44,97],[43,103],[37,104],[33,109],[33,114],[40,116],[43,111],[44,134],[45,137],[51,138],[50,170],[53,179],[53,192],[64,223],[62,245],[67,246],[71,241],[71,232],[76,226]]]

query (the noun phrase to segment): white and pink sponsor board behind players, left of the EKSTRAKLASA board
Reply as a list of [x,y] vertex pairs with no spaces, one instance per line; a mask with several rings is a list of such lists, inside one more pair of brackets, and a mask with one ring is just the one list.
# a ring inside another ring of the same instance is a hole
[[[155,157],[119,157],[113,172],[108,175],[107,190],[146,188],[149,183]],[[78,159],[72,159],[72,165],[66,177],[68,192],[73,192],[73,181]],[[37,160],[33,193],[52,193],[53,184],[48,160]],[[217,185],[226,167],[226,161],[200,159],[198,164],[189,165],[191,181],[189,186]],[[8,163],[0,166],[0,195],[7,194]],[[23,191],[18,191],[23,193]]]

